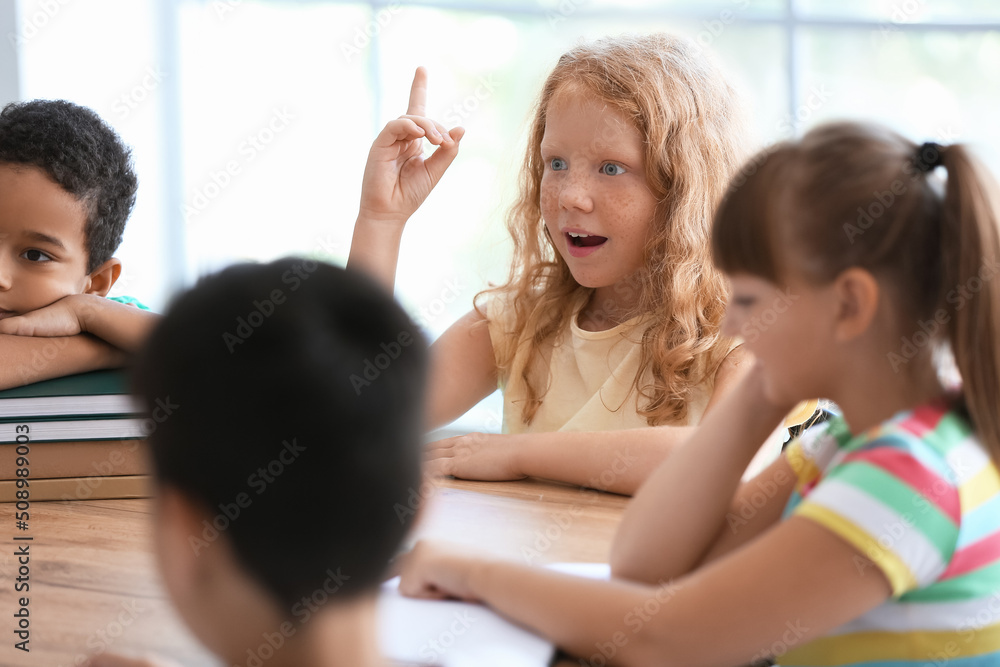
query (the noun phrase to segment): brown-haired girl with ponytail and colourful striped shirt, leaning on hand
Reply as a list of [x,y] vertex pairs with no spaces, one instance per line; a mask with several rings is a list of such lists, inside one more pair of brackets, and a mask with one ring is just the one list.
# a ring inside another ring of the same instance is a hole
[[[404,591],[482,600],[591,664],[997,664],[995,183],[964,146],[855,123],[733,183],[713,256],[732,285],[723,331],[756,361],[630,503],[618,580],[421,544]],[[741,484],[809,396],[843,417]]]

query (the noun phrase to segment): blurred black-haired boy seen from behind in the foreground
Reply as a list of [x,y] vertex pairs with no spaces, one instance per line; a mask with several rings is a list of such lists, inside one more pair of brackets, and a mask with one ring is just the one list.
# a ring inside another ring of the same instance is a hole
[[[398,355],[356,387],[386,344]],[[178,406],[151,435],[156,551],[181,616],[225,664],[381,664],[375,599],[409,528],[394,507],[419,485],[426,365],[388,294],[308,260],[204,279],[154,330],[138,393]]]

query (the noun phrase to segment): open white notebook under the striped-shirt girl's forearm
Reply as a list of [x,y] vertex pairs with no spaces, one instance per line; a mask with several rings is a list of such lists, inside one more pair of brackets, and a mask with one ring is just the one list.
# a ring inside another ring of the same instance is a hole
[[[551,566],[569,574],[608,577],[600,563]],[[399,594],[399,578],[382,585],[379,645],[397,665],[441,667],[547,667],[552,642],[479,604],[416,600]]]

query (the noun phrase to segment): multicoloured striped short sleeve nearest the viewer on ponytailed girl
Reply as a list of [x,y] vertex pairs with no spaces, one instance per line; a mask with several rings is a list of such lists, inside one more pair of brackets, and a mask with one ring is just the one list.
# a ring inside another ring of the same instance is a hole
[[846,452],[794,514],[852,544],[898,597],[934,582],[958,540],[957,480],[919,437],[884,433]]

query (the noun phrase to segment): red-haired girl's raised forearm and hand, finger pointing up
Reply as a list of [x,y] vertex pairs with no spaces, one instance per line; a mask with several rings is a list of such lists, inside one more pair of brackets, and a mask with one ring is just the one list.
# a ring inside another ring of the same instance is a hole
[[[365,271],[390,292],[407,219],[424,202],[458,155],[465,133],[425,117],[427,72],[417,68],[406,115],[390,121],[372,144],[361,184],[361,208],[347,266]],[[423,157],[423,141],[438,149]]]

